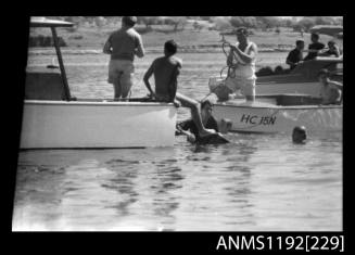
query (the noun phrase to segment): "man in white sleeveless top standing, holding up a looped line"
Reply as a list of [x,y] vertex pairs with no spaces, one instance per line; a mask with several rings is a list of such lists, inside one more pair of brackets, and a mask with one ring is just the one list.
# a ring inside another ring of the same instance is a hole
[[241,89],[246,101],[255,100],[255,60],[257,46],[248,38],[246,28],[237,29],[238,42],[230,44],[230,52],[227,58],[227,65],[231,67],[232,74],[226,80],[226,85],[232,91]]

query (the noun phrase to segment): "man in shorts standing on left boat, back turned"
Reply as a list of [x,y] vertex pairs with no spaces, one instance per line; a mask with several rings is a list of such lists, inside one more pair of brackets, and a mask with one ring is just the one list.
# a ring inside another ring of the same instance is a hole
[[141,36],[134,29],[136,23],[136,16],[124,16],[122,28],[112,33],[103,47],[103,53],[111,55],[107,81],[114,86],[115,100],[127,98],[130,91],[135,55],[144,56]]

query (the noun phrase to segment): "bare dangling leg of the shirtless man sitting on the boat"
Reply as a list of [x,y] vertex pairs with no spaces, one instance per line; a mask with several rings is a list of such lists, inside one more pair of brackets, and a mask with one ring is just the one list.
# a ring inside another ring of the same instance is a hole
[[191,98],[188,98],[181,93],[176,93],[175,98],[181,102],[181,105],[185,107],[191,109],[191,116],[199,129],[200,136],[206,136],[211,133],[215,133],[213,129],[206,129],[201,119],[201,112],[200,112],[200,103]]

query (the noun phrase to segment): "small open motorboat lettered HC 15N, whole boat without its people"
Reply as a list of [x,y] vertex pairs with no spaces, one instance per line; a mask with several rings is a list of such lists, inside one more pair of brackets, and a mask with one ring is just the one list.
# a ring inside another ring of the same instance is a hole
[[265,94],[252,103],[243,99],[217,102],[212,114],[219,124],[229,119],[229,131],[234,132],[290,135],[295,126],[314,133],[342,131],[343,105],[319,103],[319,98],[308,94]]

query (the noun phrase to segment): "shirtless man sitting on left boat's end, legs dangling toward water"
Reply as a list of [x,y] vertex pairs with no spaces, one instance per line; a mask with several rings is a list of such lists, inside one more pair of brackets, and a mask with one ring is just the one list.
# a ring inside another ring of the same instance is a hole
[[[145,72],[143,80],[151,93],[151,97],[160,102],[174,102],[176,106],[180,104],[191,109],[192,119],[199,130],[199,136],[204,137],[216,131],[206,129],[202,123],[200,104],[198,101],[188,98],[177,91],[177,77],[182,67],[182,61],[175,56],[177,52],[177,43],[168,40],[164,44],[164,56],[153,61],[149,69]],[[152,90],[149,82],[150,77],[154,75],[155,91]]]

